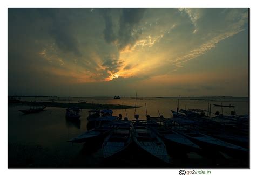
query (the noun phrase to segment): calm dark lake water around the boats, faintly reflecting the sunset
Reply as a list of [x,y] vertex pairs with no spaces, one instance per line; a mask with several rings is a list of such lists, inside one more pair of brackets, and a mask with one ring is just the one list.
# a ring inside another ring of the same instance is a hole
[[[83,97],[71,98],[70,101],[63,101],[63,99],[56,99],[55,102],[77,103],[79,100],[85,100],[88,103],[135,105],[135,99],[132,97],[122,97],[122,99]],[[49,98],[22,97],[21,100],[49,101]],[[170,110],[176,110],[178,98],[143,97],[138,98],[136,103],[137,106],[142,106],[136,109],[136,114],[139,114],[140,119],[146,119],[145,103],[148,115],[158,116],[159,111],[164,117],[172,117]],[[248,98],[214,98],[209,101],[202,98],[180,98],[179,108],[208,110],[208,103],[234,105],[238,115],[249,113]],[[124,157],[116,162],[106,162],[103,159],[102,143],[72,144],[67,142],[87,130],[86,117],[89,115],[89,110],[82,110],[79,121],[68,121],[65,118],[64,108],[46,107],[45,111],[35,114],[22,114],[18,111],[28,108],[29,106],[21,104],[9,104],[8,106],[9,167],[152,167],[144,160],[136,162],[138,159],[134,157],[131,162],[127,162]],[[230,114],[231,110],[233,108],[223,108],[223,113]],[[211,111],[221,112],[221,108],[211,105]],[[133,120],[134,109],[113,110],[114,116],[118,114],[126,116],[126,113],[128,118]],[[173,156],[170,155],[170,157]],[[248,167],[248,160],[233,158],[225,153],[216,156],[213,152],[200,155],[184,151],[183,157],[174,156],[173,163],[170,165],[155,162],[152,164],[156,167]]]

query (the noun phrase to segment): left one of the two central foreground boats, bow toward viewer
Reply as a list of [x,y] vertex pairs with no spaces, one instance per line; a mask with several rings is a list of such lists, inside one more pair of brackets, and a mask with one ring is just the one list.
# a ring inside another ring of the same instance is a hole
[[104,158],[126,149],[132,141],[132,125],[124,124],[113,129],[102,145]]

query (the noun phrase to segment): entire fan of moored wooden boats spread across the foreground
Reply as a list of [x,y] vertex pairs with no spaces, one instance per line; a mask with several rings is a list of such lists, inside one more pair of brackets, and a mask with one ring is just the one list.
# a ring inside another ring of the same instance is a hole
[[[104,118],[104,117],[103,117]],[[205,151],[218,150],[241,155],[248,149],[199,132],[198,123],[183,117],[164,118],[147,116],[147,120],[128,121],[118,119],[109,121],[92,130],[84,132],[69,142],[95,142],[102,139],[104,158],[117,155],[130,145],[144,151],[163,162],[169,163],[167,150]]]

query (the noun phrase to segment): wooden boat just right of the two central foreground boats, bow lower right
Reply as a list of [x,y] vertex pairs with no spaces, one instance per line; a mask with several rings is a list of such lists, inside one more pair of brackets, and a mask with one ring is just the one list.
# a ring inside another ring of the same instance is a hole
[[167,129],[165,127],[151,127],[154,131],[157,132],[158,136],[163,138],[163,140],[172,146],[176,146],[178,149],[201,149],[197,144],[190,141],[190,139],[185,136],[179,134],[176,131],[171,129]]

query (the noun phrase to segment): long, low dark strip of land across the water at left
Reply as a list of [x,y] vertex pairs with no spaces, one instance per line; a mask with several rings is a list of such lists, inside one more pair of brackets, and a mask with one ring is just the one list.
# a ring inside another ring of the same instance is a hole
[[128,106],[122,104],[92,104],[92,103],[58,103],[58,102],[19,102],[29,106],[47,106],[47,107],[57,107],[57,108],[69,108],[72,106],[79,107],[81,109],[132,109],[140,108],[140,106]]

